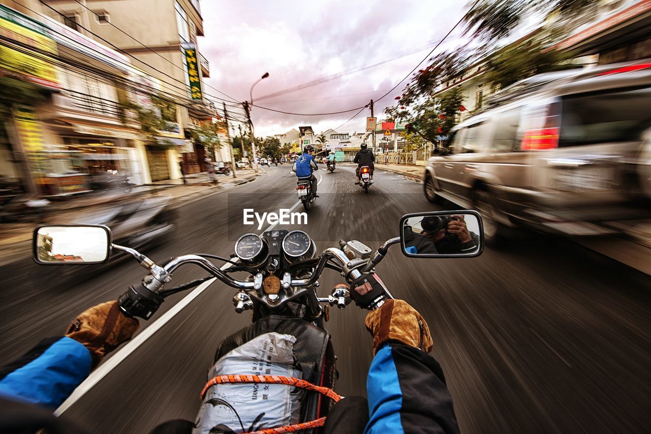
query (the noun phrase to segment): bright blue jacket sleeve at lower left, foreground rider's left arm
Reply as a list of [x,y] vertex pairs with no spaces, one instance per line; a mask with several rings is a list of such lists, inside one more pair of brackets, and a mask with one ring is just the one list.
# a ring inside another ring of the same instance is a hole
[[90,373],[90,352],[74,339],[47,339],[0,368],[0,394],[56,409]]

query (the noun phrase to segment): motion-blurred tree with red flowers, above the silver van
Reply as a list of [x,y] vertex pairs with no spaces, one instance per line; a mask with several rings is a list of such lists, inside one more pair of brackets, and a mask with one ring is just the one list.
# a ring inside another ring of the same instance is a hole
[[[467,77],[469,68],[484,69],[488,83],[507,87],[516,81],[543,72],[572,68],[571,53],[551,47],[597,0],[479,0],[464,16],[471,43],[439,53],[426,68],[413,74],[395,107],[385,113],[409,122],[408,132],[417,131],[432,141],[447,133],[463,111],[457,87],[439,93]],[[546,24],[523,40],[505,47],[499,42],[511,36],[520,23],[542,16]],[[485,64],[477,59],[486,59]],[[473,70],[474,71],[474,70]]]

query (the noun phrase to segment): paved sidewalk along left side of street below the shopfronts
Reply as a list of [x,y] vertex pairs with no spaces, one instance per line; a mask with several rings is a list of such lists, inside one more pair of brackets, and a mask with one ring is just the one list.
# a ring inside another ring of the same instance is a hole
[[83,213],[87,210],[101,210],[113,206],[121,200],[166,197],[169,198],[172,208],[178,208],[194,198],[251,182],[265,173],[264,170],[260,170],[256,174],[253,169],[238,169],[237,178],[233,178],[232,173],[229,176],[217,175],[215,176],[217,183],[208,182],[208,174],[198,173],[186,176],[187,184],[184,184],[183,180],[166,180],[150,185],[138,185],[128,193],[96,193],[85,197],[70,198],[62,202],[52,202],[48,206],[48,216],[42,223],[0,224],[0,265],[31,255],[32,233],[38,224],[73,223],[71,216],[75,213]]

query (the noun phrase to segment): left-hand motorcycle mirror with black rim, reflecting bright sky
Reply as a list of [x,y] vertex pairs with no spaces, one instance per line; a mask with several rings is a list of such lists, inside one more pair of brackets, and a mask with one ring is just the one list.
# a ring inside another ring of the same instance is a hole
[[32,241],[36,264],[104,264],[111,256],[111,230],[103,225],[37,226]]

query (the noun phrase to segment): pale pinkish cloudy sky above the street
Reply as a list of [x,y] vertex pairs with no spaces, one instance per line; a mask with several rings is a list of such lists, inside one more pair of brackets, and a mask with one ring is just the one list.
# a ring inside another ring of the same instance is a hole
[[[466,3],[202,0],[205,36],[199,44],[201,53],[210,61],[211,75],[206,81],[242,101],[249,98],[253,82],[269,72],[270,77],[255,87],[256,105],[292,113],[329,113],[361,107],[404,78],[461,18]],[[437,51],[458,44],[454,36]],[[348,73],[351,70],[355,72]],[[296,92],[263,98],[341,73],[346,74]],[[393,98],[407,82],[377,103],[376,116],[393,104]],[[217,94],[211,88],[206,91]],[[255,108],[253,120],[259,136],[284,133],[299,125],[311,125],[318,133],[339,127],[355,113],[295,116]],[[367,110],[341,130],[361,131],[365,116],[370,116]]]

